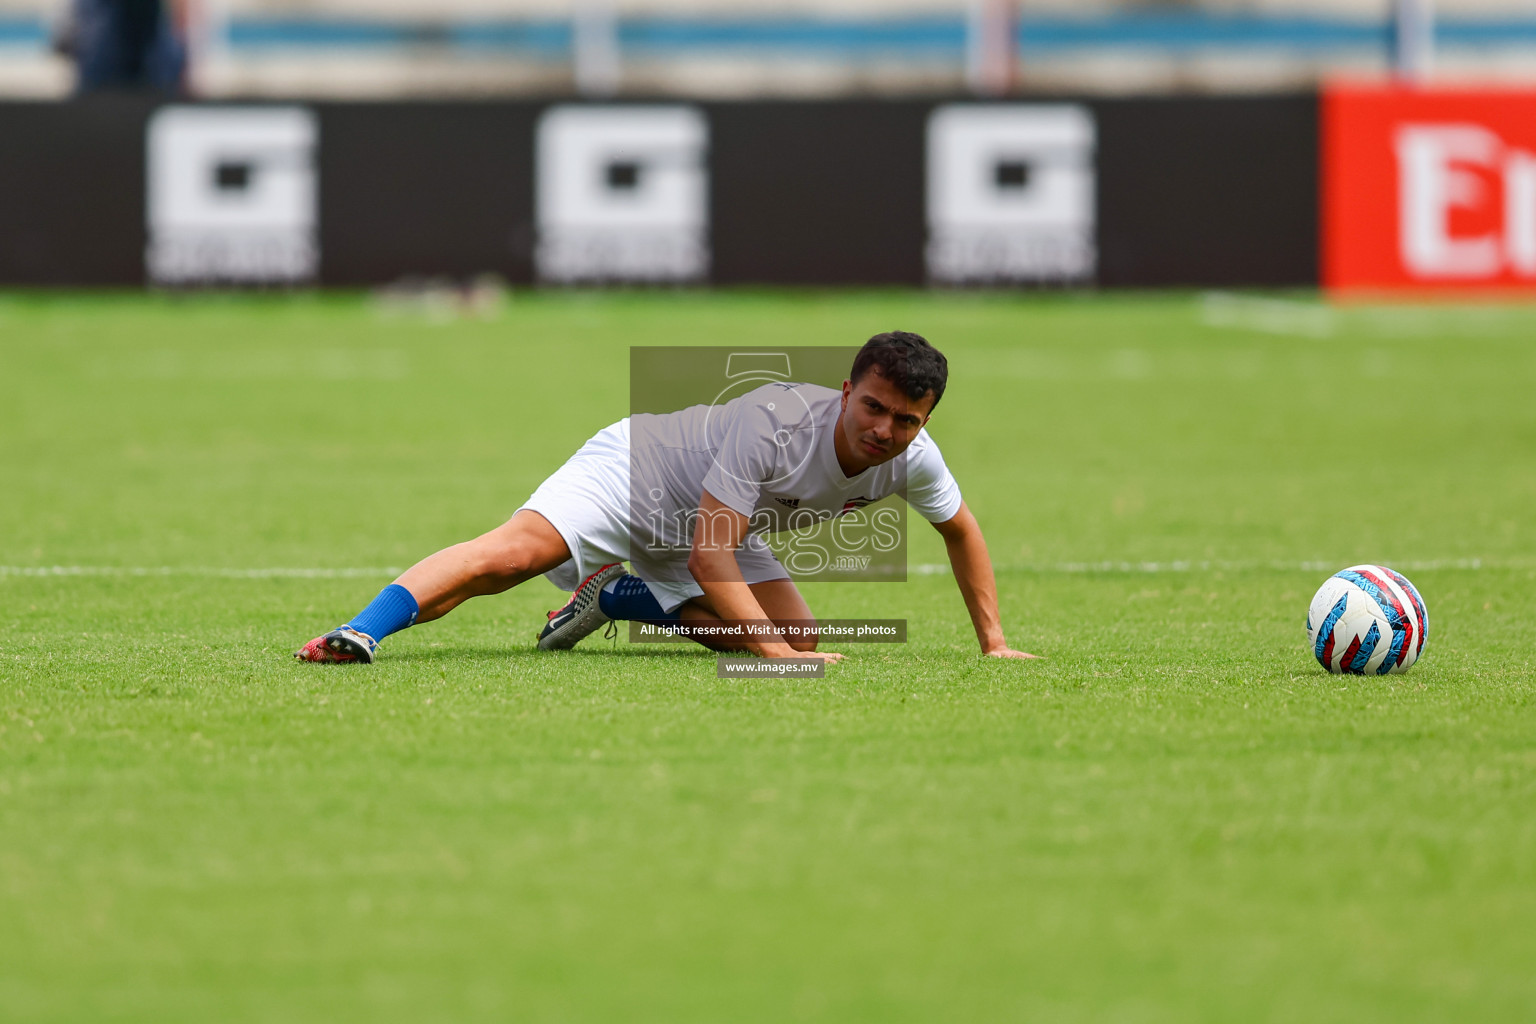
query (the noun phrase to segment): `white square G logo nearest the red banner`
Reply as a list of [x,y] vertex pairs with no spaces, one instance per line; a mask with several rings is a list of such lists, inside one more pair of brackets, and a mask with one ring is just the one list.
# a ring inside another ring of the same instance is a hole
[[928,275],[948,284],[1092,279],[1094,115],[942,106],[928,120]]

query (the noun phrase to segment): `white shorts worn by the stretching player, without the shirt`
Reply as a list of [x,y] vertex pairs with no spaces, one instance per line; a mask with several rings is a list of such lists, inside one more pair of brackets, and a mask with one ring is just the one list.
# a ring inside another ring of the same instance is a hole
[[[564,591],[613,562],[630,562],[656,602],[673,611],[703,588],[688,573],[688,551],[668,563],[630,556],[630,421],[604,427],[581,450],[554,470],[522,504],[550,520],[565,539],[571,557],[544,574]],[[790,579],[790,573],[757,534],[748,534],[736,551],[736,563],[748,583]]]

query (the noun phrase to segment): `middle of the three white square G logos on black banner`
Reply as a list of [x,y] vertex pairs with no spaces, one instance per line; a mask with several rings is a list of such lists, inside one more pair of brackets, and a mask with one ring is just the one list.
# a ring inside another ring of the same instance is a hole
[[703,114],[556,106],[538,127],[544,281],[699,281],[710,272]]

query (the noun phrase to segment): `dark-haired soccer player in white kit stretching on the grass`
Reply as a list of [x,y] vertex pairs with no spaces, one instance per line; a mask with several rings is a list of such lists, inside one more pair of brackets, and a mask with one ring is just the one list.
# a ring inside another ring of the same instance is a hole
[[573,593],[544,623],[542,649],[571,648],[619,619],[679,623],[685,634],[734,626],[707,645],[837,662],[842,654],[816,649],[814,633],[785,631],[813,614],[762,534],[895,493],[943,537],[982,652],[1034,657],[1003,637],[982,528],[923,428],[948,373],[928,341],[889,332],[859,350],[842,391],[770,382],[722,405],[622,419],[510,520],[422,559],[295,657],[372,662],[392,633],[548,576]]

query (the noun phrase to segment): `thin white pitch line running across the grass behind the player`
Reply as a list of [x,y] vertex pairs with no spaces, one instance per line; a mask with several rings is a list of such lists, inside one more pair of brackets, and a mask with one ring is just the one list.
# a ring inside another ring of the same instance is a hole
[[[1392,568],[1404,573],[1435,570],[1536,570],[1536,559],[1410,559],[1392,562]],[[1140,573],[1147,576],[1164,573],[1240,573],[1270,570],[1278,573],[1336,573],[1346,568],[1335,562],[1223,562],[1223,560],[1174,560],[1174,562],[1023,562],[998,565],[998,573],[1040,573],[1083,576],[1089,573]],[[404,570],[379,568],[223,568],[215,565],[0,565],[0,579],[20,576],[40,577],[164,577],[192,576],[204,579],[393,579]],[[923,562],[908,567],[909,576],[945,576],[949,567],[943,562]]]

